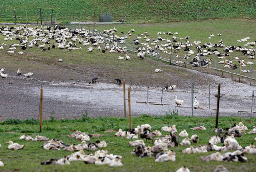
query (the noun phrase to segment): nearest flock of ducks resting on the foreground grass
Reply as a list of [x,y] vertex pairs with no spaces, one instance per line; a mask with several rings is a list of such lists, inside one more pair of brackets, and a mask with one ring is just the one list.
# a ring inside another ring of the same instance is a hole
[[[168,147],[177,147],[179,145],[182,146],[190,146],[186,149],[182,150],[183,154],[198,154],[198,153],[207,153],[209,151],[217,151],[216,153],[210,154],[208,156],[201,156],[200,159],[205,162],[209,161],[228,161],[228,162],[248,162],[248,159],[245,157],[245,154],[256,154],[256,147],[252,143],[249,146],[242,147],[239,145],[235,137],[242,137],[243,134],[248,130],[248,128],[242,123],[239,122],[239,125],[232,125],[231,127],[225,128],[227,131],[224,132],[222,128],[213,129],[212,136],[207,145],[199,145],[197,147],[191,146],[191,144],[199,143],[199,136],[192,135],[190,138],[188,137],[188,132],[184,129],[178,133],[176,125],[164,126],[161,128],[161,131],[169,132],[165,136],[162,136],[161,132],[151,131],[152,127],[149,124],[143,124],[141,126],[137,126],[131,131],[123,131],[119,129],[118,132],[114,134],[115,137],[124,137],[127,139],[138,139],[128,142],[130,147],[135,147],[135,149],[131,152],[132,155],[136,155],[139,158],[143,157],[152,157],[154,156],[155,162],[164,162],[164,161],[176,161],[176,153],[173,150],[168,150]],[[206,127],[203,125],[191,128],[193,131],[205,131]],[[256,134],[256,125],[255,127],[248,132],[248,134]],[[29,136],[27,134],[20,136],[19,140],[26,141],[35,141],[44,142],[42,147],[45,150],[65,150],[65,151],[75,151],[74,153],[64,156],[60,159],[50,159],[47,161],[41,162],[42,165],[49,164],[70,164],[71,161],[83,161],[85,164],[96,164],[96,165],[104,165],[108,164],[109,166],[122,166],[122,156],[115,154],[108,154],[107,150],[98,150],[100,148],[107,147],[107,143],[103,140],[97,140],[95,143],[86,143],[90,141],[92,137],[100,137],[101,134],[88,134],[81,131],[76,131],[70,135],[68,138],[75,138],[81,140],[81,144],[71,144],[67,145],[62,140],[58,139],[49,139],[46,136],[40,136],[36,134],[35,138]],[[155,137],[157,137],[155,139]],[[179,142],[180,138],[182,141]],[[154,146],[147,146],[144,142],[147,140],[152,140]],[[256,141],[256,138],[255,138]],[[191,143],[192,142],[192,143]],[[25,145],[20,145],[19,143],[14,143],[9,140],[8,149],[10,150],[20,150],[24,149]],[[223,146],[217,146],[217,144],[223,143]],[[1,147],[1,144],[0,144]],[[95,151],[95,153],[85,154],[84,150]],[[221,154],[221,151],[229,151]],[[233,151],[233,152],[231,152]],[[0,160],[0,166],[4,166],[4,163]],[[216,172],[220,169],[224,169],[223,166],[218,166],[216,168]],[[182,166],[177,172],[189,172],[190,170]],[[227,169],[225,170],[227,171]]]

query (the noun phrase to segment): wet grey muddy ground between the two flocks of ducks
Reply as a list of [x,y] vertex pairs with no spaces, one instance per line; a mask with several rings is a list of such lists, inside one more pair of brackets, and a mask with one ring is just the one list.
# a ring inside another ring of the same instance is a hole
[[[153,61],[153,60],[152,60]],[[33,65],[32,65],[33,64]],[[115,76],[108,74],[109,79],[99,79],[99,83],[89,85],[89,80],[95,73],[106,75],[106,71],[98,68],[92,70],[94,73],[84,74],[83,69],[67,69],[53,65],[46,65],[34,61],[24,61],[23,65],[30,66],[30,70],[35,74],[31,78],[17,76],[18,65],[7,65],[8,77],[0,79],[0,116],[2,120],[6,118],[38,118],[40,88],[43,88],[43,118],[49,119],[51,115],[56,118],[79,118],[85,111],[89,117],[115,116],[123,117],[123,88],[115,84]],[[145,103],[147,97],[147,83],[145,78],[136,78],[132,73],[127,73],[125,78],[131,84],[131,111],[132,116],[149,114],[152,116],[165,115],[175,108],[174,95],[178,99],[184,100],[181,107],[177,107],[178,114],[190,116],[191,112],[191,72],[195,76],[195,92],[200,107],[203,109],[194,110],[195,116],[215,116],[217,98],[217,85],[221,83],[221,94],[225,94],[220,100],[220,116],[242,116],[255,117],[256,113],[238,113],[238,111],[250,111],[252,89],[248,80],[243,83],[231,81],[230,78],[220,78],[219,76],[208,75],[190,69],[180,69],[176,66],[161,64],[163,67],[170,67],[171,70],[180,70],[183,77],[177,73],[169,73],[169,80],[177,83],[175,91],[163,92],[163,104],[169,105],[149,105]],[[155,83],[156,76],[147,76],[149,83],[148,102],[161,102],[161,83]],[[209,84],[210,86],[210,110],[209,106]],[[228,96],[237,95],[237,96]],[[253,111],[256,106],[253,104]],[[128,101],[127,101],[128,113]]]

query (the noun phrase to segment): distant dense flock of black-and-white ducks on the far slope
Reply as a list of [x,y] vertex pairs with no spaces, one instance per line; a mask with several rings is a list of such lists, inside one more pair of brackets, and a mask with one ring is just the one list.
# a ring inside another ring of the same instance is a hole
[[[126,53],[127,47],[126,46],[118,46],[118,44],[124,44],[125,40],[128,39],[128,36],[132,36],[132,33],[135,32],[135,29],[131,29],[127,35],[125,35],[125,32],[121,32],[124,34],[123,36],[117,35],[118,30],[116,28],[109,29],[109,30],[103,30],[103,32],[99,32],[97,29],[95,30],[86,30],[84,28],[82,29],[68,29],[60,26],[54,26],[54,27],[42,27],[39,28],[36,26],[35,28],[24,26],[19,27],[9,27],[9,26],[2,26],[0,28],[0,33],[5,37],[4,41],[10,41],[10,40],[16,40],[19,41],[19,43],[10,44],[10,48],[8,48],[9,51],[7,51],[10,54],[14,54],[14,52],[17,50],[18,47],[20,47],[23,51],[29,48],[33,47],[39,47],[42,49],[42,51],[50,51],[51,48],[59,48],[59,49],[67,49],[68,51],[73,50],[81,50],[83,45],[84,47],[88,48],[88,52],[94,51],[94,47],[97,47],[98,51],[102,51],[105,53],[106,51],[109,51],[110,53]],[[185,38],[177,37],[178,32],[172,33],[172,32],[158,32],[157,34],[159,37],[157,39],[151,40],[148,36],[148,32],[139,33],[136,39],[133,39],[133,43],[135,45],[138,45],[136,47],[136,50],[138,51],[137,56],[141,59],[144,59],[146,54],[153,54],[158,55],[159,51],[167,54],[171,54],[173,52],[181,51],[182,49],[186,51],[186,55],[184,55],[183,59],[189,59],[192,55],[195,54],[195,57],[193,57],[193,60],[189,62],[193,66],[207,66],[208,63],[210,64],[212,59],[209,57],[211,55],[217,55],[218,59],[223,59],[223,61],[220,61],[219,63],[225,63],[224,67],[232,67],[232,69],[237,69],[237,65],[234,64],[234,61],[237,61],[239,65],[242,67],[246,67],[246,64],[253,65],[254,62],[247,61],[245,64],[245,60],[241,59],[239,60],[238,56],[236,56],[234,59],[227,59],[230,56],[230,53],[232,52],[241,52],[242,56],[247,56],[248,59],[254,59],[255,57],[255,49],[253,46],[255,45],[255,42],[249,42],[250,37],[246,37],[241,40],[237,40],[238,42],[247,42],[244,47],[249,46],[248,48],[243,48],[241,46],[233,46],[233,45],[224,45],[223,39],[218,41],[218,43],[205,43],[202,44],[201,41],[193,41],[193,43],[190,43],[189,38],[190,36],[186,36]],[[174,35],[171,39],[163,39],[160,35]],[[218,36],[222,36],[222,34],[217,34]],[[143,38],[141,36],[144,36]],[[211,39],[214,36],[214,34],[210,34],[210,37],[208,39]],[[29,41],[29,38],[32,37],[32,40]],[[55,43],[50,45],[50,41],[55,40]],[[182,40],[186,40],[185,43],[182,43]],[[166,41],[166,43],[164,43]],[[78,43],[77,43],[78,42]],[[41,44],[39,44],[41,43]],[[160,44],[161,43],[161,44]],[[48,46],[47,46],[48,44]],[[192,50],[193,46],[195,47],[194,52]],[[150,46],[153,46],[150,47]],[[4,48],[6,47],[6,48]],[[223,53],[217,50],[217,48],[222,48]],[[2,43],[0,45],[0,51],[7,49],[6,43]],[[173,52],[168,52],[168,50],[173,50]],[[24,52],[19,51],[18,54],[23,55]],[[178,56],[178,55],[177,55]],[[202,59],[201,57],[206,56],[206,59]],[[118,60],[129,60],[131,59],[130,56],[127,54],[124,56],[119,56]],[[62,58],[58,59],[59,62],[63,62]],[[183,63],[182,61],[179,61],[177,63]],[[156,69],[155,72],[163,72],[162,69]],[[248,73],[249,70],[242,70],[242,72]],[[7,74],[4,74],[3,72],[0,72],[0,76],[2,78],[6,78]]]

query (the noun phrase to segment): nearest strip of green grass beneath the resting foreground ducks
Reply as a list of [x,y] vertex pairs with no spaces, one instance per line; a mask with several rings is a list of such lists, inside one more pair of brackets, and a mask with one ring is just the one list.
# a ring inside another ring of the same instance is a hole
[[[219,118],[218,127],[225,128],[230,127],[235,122],[242,121],[249,129],[253,128],[256,123],[255,118],[233,118],[233,117],[221,117]],[[189,133],[189,137],[193,134],[199,136],[199,143],[192,144],[194,147],[202,144],[207,144],[210,137],[214,135],[212,129],[215,127],[215,118],[202,118],[202,117],[181,117],[177,116],[177,113],[169,113],[162,117],[151,117],[142,115],[141,117],[132,118],[132,127],[137,125],[150,124],[152,130],[161,130],[161,127],[167,125],[177,125],[178,133],[183,129]],[[206,131],[192,131],[190,128],[198,125],[205,125]],[[107,142],[106,150],[109,153],[121,155],[122,167],[110,168],[108,165],[94,165],[85,164],[81,161],[72,161],[70,165],[40,165],[41,161],[49,160],[50,158],[61,158],[65,155],[70,155],[73,152],[64,150],[52,150],[47,151],[42,148],[43,142],[29,142],[19,140],[19,137],[25,133],[35,137],[39,132],[39,124],[36,120],[17,121],[8,119],[0,123],[0,158],[4,162],[5,166],[0,167],[0,171],[176,171],[182,165],[187,166],[191,171],[213,171],[217,165],[225,166],[230,172],[232,171],[256,171],[256,159],[255,154],[246,154],[248,162],[202,162],[200,160],[201,155],[209,155],[214,153],[202,153],[202,154],[182,154],[181,151],[186,146],[178,146],[176,148],[169,148],[176,153],[175,162],[154,162],[154,157],[151,158],[138,158],[135,155],[131,155],[134,147],[129,147],[128,142],[131,141],[126,138],[114,137],[115,132],[104,132],[108,129],[129,129],[128,119],[114,118],[114,117],[101,117],[101,118],[88,118],[83,116],[81,119],[74,120],[51,120],[43,121],[43,132],[40,135],[47,136],[50,139],[61,139],[66,144],[79,144],[81,141],[74,138],[67,138],[67,135],[72,133],[71,130],[80,130],[82,132],[102,133],[100,138],[91,138],[90,142],[96,140],[105,140]],[[161,132],[163,135],[168,132]],[[236,138],[238,143],[244,147],[248,146],[254,141],[255,135],[244,134],[241,138]],[[12,140],[15,143],[25,144],[22,150],[8,150],[6,143],[8,140]],[[180,142],[181,142],[180,138]],[[89,142],[86,142],[89,143]],[[147,145],[153,146],[152,142],[146,142]],[[218,146],[221,146],[219,144]],[[85,151],[85,153],[93,153]]]

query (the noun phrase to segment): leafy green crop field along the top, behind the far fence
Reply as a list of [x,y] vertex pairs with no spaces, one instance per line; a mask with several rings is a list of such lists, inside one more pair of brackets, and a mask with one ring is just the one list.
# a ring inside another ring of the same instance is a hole
[[[220,7],[221,4],[221,7]],[[42,8],[43,22],[50,22],[51,10],[53,10],[53,21],[68,23],[70,21],[93,21],[98,20],[100,14],[113,16],[113,21],[120,17],[127,22],[167,22],[184,21],[195,19],[213,18],[241,18],[256,17],[254,0],[7,0],[0,6],[0,13],[14,16],[14,10],[19,18],[36,22],[36,10]],[[197,16],[198,10],[198,16]],[[0,22],[14,22],[10,16],[0,15]],[[25,22],[18,19],[18,22]],[[40,21],[40,15],[39,15]]]

